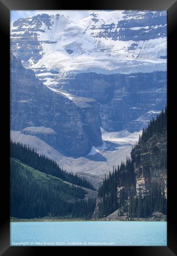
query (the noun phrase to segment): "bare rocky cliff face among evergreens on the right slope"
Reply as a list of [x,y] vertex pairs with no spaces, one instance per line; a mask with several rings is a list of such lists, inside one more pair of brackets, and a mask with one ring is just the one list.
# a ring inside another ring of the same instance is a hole
[[167,135],[154,134],[146,143],[139,143],[131,151],[136,175],[136,193],[146,191],[158,183],[167,196]]

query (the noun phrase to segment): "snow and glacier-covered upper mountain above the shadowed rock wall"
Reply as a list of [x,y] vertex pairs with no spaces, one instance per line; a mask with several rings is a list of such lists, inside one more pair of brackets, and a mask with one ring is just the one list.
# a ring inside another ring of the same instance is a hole
[[25,67],[62,76],[166,71],[166,26],[166,11],[41,14],[13,23],[11,50]]

